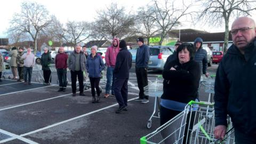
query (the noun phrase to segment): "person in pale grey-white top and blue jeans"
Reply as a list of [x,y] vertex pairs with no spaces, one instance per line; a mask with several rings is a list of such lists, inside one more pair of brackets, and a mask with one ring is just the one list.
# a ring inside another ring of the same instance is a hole
[[35,66],[35,55],[31,53],[31,49],[28,48],[27,53],[24,53],[21,58],[24,59],[24,84],[31,84],[32,70]]

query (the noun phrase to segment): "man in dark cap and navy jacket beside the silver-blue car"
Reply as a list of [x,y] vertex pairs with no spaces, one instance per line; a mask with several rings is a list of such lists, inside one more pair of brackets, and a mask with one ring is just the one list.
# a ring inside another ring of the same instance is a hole
[[149,61],[149,47],[144,44],[144,39],[139,37],[137,39],[139,48],[137,49],[135,59],[135,73],[137,77],[139,87],[139,98],[135,101],[141,101],[141,103],[148,103],[148,95],[144,94],[144,87],[148,85],[148,61]]

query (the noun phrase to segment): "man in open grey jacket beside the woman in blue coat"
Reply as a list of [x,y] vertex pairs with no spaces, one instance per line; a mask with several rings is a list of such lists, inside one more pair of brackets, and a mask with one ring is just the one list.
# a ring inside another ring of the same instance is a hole
[[82,47],[76,45],[75,50],[68,57],[68,68],[71,73],[71,87],[73,97],[76,96],[76,79],[78,77],[79,82],[79,95],[85,96],[84,84],[83,84],[83,71],[85,71],[86,58],[84,53],[81,51]]

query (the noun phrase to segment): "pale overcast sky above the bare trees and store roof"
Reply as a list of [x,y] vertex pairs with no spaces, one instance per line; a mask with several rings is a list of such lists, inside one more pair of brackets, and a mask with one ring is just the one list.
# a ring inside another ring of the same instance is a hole
[[[159,0],[161,1],[161,0]],[[20,0],[1,1],[1,22],[0,22],[0,37],[7,37],[5,31],[9,28],[10,20],[14,13],[21,11]],[[71,0],[71,1],[57,1],[57,0],[37,0],[35,1],[42,4],[46,9],[57,17],[62,23],[68,20],[74,21],[88,21],[91,22],[96,17],[97,10],[104,9],[111,2],[117,2],[118,5],[125,6],[127,10],[135,12],[138,7],[143,6],[151,2],[151,0]],[[255,15],[253,16],[255,20]],[[186,21],[186,20],[185,20]],[[180,28],[194,28],[199,30],[206,30],[210,32],[224,31],[224,26],[209,28],[207,26],[191,26],[188,23]]]

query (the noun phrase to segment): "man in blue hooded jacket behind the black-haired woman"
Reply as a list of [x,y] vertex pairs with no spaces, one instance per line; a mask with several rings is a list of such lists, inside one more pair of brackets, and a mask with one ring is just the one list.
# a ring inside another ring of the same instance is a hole
[[194,41],[196,47],[194,60],[199,63],[201,74],[204,74],[206,77],[209,76],[209,73],[206,73],[207,69],[207,52],[203,49],[203,39],[197,37]]

